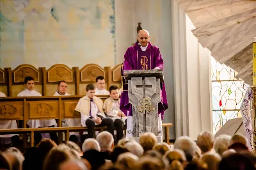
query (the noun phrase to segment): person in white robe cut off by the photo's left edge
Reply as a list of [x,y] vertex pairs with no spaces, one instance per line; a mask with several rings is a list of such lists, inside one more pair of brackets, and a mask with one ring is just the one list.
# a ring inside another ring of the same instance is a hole
[[[6,95],[0,92],[0,97],[6,97]],[[2,112],[7,108],[7,105],[2,106]],[[16,120],[0,120],[0,129],[13,129],[18,128]],[[0,144],[11,144],[13,146],[17,146],[19,144],[19,135],[17,134],[8,134],[8,135],[0,135]]]

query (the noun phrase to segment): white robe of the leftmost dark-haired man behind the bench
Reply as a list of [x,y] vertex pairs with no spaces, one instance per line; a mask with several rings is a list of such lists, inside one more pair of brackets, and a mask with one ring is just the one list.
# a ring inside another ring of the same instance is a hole
[[[35,90],[24,89],[17,95],[17,97],[42,97],[42,95]],[[57,123],[54,119],[52,119],[52,120],[28,120],[27,124],[29,125],[30,128],[50,127],[53,125],[54,125],[54,127],[57,127]]]

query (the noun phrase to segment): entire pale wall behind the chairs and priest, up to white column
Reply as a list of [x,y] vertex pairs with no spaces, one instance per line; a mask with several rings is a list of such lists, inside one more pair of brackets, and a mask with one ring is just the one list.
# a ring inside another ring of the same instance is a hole
[[[0,0],[0,3],[1,12],[12,18],[8,26],[15,28],[15,31],[1,33],[1,40],[4,40],[0,42],[1,68],[10,66],[13,69],[24,63],[36,68],[44,66],[46,69],[57,63],[79,68],[88,63],[113,67],[124,61],[125,51],[136,42],[136,27],[141,22],[141,27],[150,32],[150,42],[159,47],[164,59],[164,81],[169,109],[165,112],[163,121],[175,125],[172,1],[116,0],[115,34],[110,33],[112,27],[109,22],[109,16],[113,15],[113,0],[93,0],[91,3],[70,0],[66,1],[68,4],[50,3],[43,6],[38,0],[31,7],[42,10],[41,17],[27,12],[17,15],[13,4],[3,2],[13,1]],[[99,6],[101,12],[104,11],[100,18],[95,15],[95,6]],[[79,10],[81,7],[85,10]],[[19,22],[20,17],[26,17],[24,23]],[[22,34],[22,31],[25,33]],[[54,86],[48,88],[52,89]],[[84,93],[84,86],[81,85],[80,94]],[[175,139],[175,127],[170,129],[170,139]]]

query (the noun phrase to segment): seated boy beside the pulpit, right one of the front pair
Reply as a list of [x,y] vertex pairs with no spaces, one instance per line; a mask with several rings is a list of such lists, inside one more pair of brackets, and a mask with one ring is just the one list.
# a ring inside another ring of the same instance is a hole
[[111,118],[114,121],[114,127],[116,128],[116,138],[122,139],[123,127],[127,116],[124,112],[120,110],[120,98],[118,94],[118,88],[116,86],[110,86],[109,88],[110,97],[107,98],[104,102],[103,109],[104,112],[108,115],[108,118]]

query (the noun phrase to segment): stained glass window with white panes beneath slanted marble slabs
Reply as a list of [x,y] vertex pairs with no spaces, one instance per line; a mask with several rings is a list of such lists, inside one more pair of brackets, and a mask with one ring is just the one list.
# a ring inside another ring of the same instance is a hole
[[232,68],[221,65],[211,57],[212,78],[212,121],[213,133],[230,119],[240,118],[240,106],[244,98],[248,84],[243,80],[237,80]]

